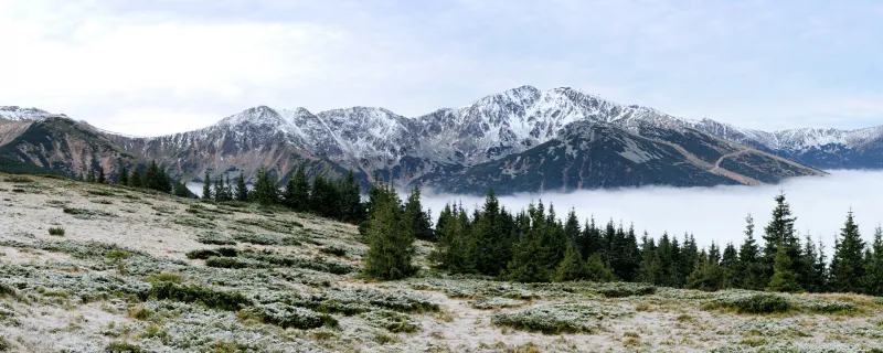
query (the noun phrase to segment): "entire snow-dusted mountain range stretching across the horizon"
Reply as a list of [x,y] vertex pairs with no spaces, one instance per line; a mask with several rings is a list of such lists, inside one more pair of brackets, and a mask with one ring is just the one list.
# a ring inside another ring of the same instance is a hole
[[502,193],[641,185],[776,183],[831,169],[883,168],[883,127],[759,131],[620,105],[572,88],[522,86],[459,108],[404,117],[384,108],[313,114],[266,106],[160,137],[130,137],[36,108],[0,107],[0,163],[113,175],[157,160],[200,181],[267,167],[280,180],[352,169],[398,186]]

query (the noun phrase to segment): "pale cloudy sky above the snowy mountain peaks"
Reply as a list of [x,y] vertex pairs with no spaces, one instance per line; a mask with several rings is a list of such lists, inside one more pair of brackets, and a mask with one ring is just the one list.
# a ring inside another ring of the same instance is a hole
[[883,125],[883,3],[0,0],[0,105],[160,135],[533,85],[740,126]]

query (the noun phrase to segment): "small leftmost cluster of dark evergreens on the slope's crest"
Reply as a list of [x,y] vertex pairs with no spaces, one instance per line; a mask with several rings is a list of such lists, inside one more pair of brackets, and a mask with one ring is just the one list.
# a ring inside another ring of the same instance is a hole
[[[98,168],[97,173],[92,169],[86,172],[86,175],[81,173],[77,176],[77,180],[99,184],[114,183],[113,180],[105,175],[103,167]],[[173,180],[164,171],[164,168],[157,164],[156,161],[151,161],[150,164],[143,168],[143,171],[136,167],[131,172],[129,172],[126,165],[123,165],[123,168],[119,170],[119,178],[117,179],[116,184],[130,188],[156,190],[181,197],[192,196],[192,193],[187,189],[183,182]]]

